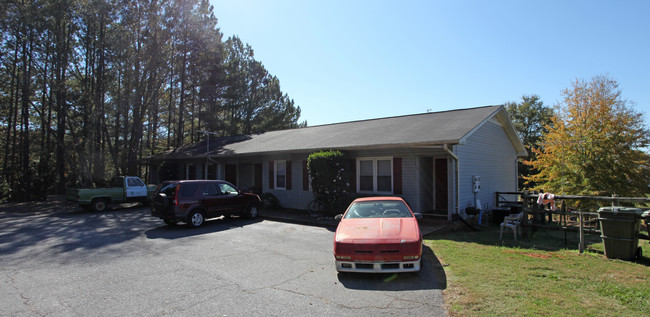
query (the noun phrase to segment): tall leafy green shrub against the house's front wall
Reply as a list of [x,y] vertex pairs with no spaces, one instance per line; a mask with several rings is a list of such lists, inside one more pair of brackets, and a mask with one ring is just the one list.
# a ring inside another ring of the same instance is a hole
[[314,199],[323,205],[326,215],[343,212],[349,203],[350,173],[341,151],[320,151],[307,159]]

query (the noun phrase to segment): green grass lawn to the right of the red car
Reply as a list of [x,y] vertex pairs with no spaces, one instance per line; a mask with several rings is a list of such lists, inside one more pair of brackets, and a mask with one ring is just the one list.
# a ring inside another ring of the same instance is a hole
[[[443,291],[454,316],[649,316],[650,245],[636,262],[610,260],[600,237],[529,229],[499,241],[498,227],[425,237],[444,268]],[[437,264],[436,264],[437,265]]]

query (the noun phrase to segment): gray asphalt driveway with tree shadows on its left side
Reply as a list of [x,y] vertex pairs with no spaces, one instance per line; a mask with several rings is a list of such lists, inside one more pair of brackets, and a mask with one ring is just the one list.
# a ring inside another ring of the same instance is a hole
[[2,316],[444,316],[444,271],[337,274],[331,229],[0,205]]

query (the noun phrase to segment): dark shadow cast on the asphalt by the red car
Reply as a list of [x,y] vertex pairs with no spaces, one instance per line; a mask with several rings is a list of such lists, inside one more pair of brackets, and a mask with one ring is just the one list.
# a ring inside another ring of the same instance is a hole
[[414,291],[447,288],[445,270],[428,246],[422,248],[422,266],[417,273],[375,274],[338,273],[338,279],[349,289],[368,291]]

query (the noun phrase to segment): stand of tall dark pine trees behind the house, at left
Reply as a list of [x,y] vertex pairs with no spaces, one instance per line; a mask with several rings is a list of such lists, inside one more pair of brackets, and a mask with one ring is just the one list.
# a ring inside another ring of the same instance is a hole
[[143,175],[143,158],[305,126],[207,0],[0,2],[0,200]]

